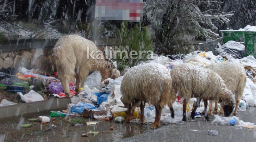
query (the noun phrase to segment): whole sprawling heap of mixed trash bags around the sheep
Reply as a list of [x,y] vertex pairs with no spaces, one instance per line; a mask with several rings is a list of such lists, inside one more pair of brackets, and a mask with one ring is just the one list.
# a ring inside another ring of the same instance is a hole
[[[247,80],[246,87],[242,99],[240,100],[238,110],[245,111],[249,106],[256,104],[256,59],[250,55],[244,57],[244,45],[242,43],[230,41],[224,45],[219,45],[215,50],[218,55],[215,56],[211,51],[194,51],[187,55],[168,55],[155,56],[154,60],[147,62],[155,62],[163,64],[166,68],[172,70],[173,67],[189,63],[198,67],[206,67],[208,64],[222,63],[222,62],[236,62],[242,64],[246,70]],[[170,58],[171,59],[170,59]],[[34,102],[49,98],[65,97],[60,80],[58,80],[57,73],[42,74],[37,70],[27,70],[26,68],[19,68],[16,75],[8,75],[0,73],[1,87],[6,87],[7,91],[18,93],[24,102]],[[120,85],[123,76],[113,80],[106,79],[101,82],[101,75],[98,71],[87,77],[84,87],[79,88],[79,94],[76,95],[74,89],[75,84],[69,82],[70,92],[73,96],[71,103],[68,104],[67,110],[63,110],[66,115],[77,115],[97,120],[111,120],[123,122],[127,117],[127,109],[121,102]],[[41,91],[41,94],[40,92]],[[26,94],[25,94],[26,93]],[[25,95],[23,95],[25,94]],[[42,96],[46,94],[46,96]],[[187,116],[193,109],[195,98],[191,98],[187,105]],[[0,106],[15,104],[8,100],[2,100]],[[182,120],[182,106],[183,99],[177,96],[176,102],[173,104],[175,111],[175,118],[170,117],[170,110],[165,106],[162,110],[162,123],[177,123]],[[220,105],[218,105],[220,108]],[[204,110],[204,104],[201,102],[197,108],[196,117],[201,117],[200,113]],[[152,123],[155,118],[155,108],[146,103],[144,109],[144,123]],[[139,123],[140,109],[136,108],[133,114],[133,123]],[[48,118],[42,118],[47,119]]]

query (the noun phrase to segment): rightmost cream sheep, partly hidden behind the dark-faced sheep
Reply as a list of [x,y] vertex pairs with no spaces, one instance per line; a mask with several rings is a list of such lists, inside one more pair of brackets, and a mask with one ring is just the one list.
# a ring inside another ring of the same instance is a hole
[[[218,64],[210,64],[206,66],[210,70],[216,72],[224,80],[227,88],[236,94],[236,107],[233,115],[237,115],[237,107],[239,100],[242,98],[246,83],[246,72],[244,67],[240,63],[224,62]],[[208,115],[211,115],[212,111],[212,100],[210,100],[210,106]],[[215,100],[215,108],[213,113],[216,114],[218,111],[218,100]],[[223,114],[223,108],[219,111],[218,115]],[[225,114],[227,116],[228,114]]]

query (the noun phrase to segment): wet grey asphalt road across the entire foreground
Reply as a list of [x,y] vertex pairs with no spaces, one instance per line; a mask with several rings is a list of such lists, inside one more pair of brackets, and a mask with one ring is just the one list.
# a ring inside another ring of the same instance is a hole
[[[256,124],[256,107],[252,106],[247,111],[238,111],[238,117],[244,122]],[[81,118],[83,123],[89,122]],[[76,119],[76,118],[72,118]],[[211,121],[214,116],[210,116]],[[64,118],[56,118],[52,130],[45,130],[51,123],[41,125],[40,122],[32,123],[32,127],[16,130],[17,122],[0,124],[0,140],[5,134],[4,142],[256,142],[256,130],[236,126],[213,125],[204,118],[196,121],[161,125],[160,128],[151,130],[151,125],[138,125],[132,123],[116,123],[113,121],[99,122],[95,126],[71,126]],[[41,125],[41,126],[40,126]],[[40,127],[42,128],[40,130]],[[114,130],[110,130],[114,127]],[[199,130],[199,131],[189,131]],[[217,130],[218,135],[208,135],[207,130]],[[83,133],[99,131],[97,135],[82,137]]]

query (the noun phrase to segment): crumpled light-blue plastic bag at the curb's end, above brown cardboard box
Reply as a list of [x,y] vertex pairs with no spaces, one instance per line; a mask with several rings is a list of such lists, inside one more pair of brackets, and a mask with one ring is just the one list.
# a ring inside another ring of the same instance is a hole
[[97,109],[97,107],[95,107],[91,103],[79,102],[75,106],[71,107],[70,113],[82,114],[84,109],[95,110],[95,109]]

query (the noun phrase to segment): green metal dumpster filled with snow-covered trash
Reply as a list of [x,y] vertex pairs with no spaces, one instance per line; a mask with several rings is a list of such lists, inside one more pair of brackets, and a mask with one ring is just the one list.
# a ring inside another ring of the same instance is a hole
[[256,58],[256,32],[253,31],[229,31],[229,30],[220,30],[223,43],[226,43],[230,40],[236,42],[244,42],[246,56],[253,55]]

